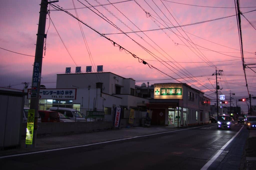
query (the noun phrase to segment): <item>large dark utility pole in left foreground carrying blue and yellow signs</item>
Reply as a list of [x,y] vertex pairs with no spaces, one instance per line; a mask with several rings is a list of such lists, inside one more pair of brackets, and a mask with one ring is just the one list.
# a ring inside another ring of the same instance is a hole
[[40,4],[40,14],[38,22],[38,31],[37,31],[37,41],[36,41],[36,53],[35,53],[35,62],[33,67],[32,75],[32,85],[31,85],[31,102],[30,109],[35,110],[35,121],[34,121],[34,131],[33,131],[33,141],[32,145],[26,145],[26,148],[35,148],[36,147],[36,134],[37,134],[37,119],[38,119],[38,108],[39,108],[39,92],[40,92],[40,82],[41,82],[41,70],[42,70],[42,58],[44,51],[44,39],[46,38],[45,34],[45,25],[46,25],[46,15],[47,15],[47,6],[49,3],[59,2],[41,0]]

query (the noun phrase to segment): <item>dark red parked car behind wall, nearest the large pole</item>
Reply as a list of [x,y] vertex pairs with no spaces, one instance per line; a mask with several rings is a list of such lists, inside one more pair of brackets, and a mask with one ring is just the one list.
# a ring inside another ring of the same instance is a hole
[[60,115],[56,111],[38,110],[38,113],[41,117],[41,122],[59,122],[60,121]]

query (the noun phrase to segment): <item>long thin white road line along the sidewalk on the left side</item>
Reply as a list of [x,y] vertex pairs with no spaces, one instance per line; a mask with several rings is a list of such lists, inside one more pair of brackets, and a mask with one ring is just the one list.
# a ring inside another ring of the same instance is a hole
[[[206,126],[211,126],[211,125],[206,125]],[[199,127],[205,127],[205,126],[199,126]],[[92,146],[92,145],[98,145],[98,144],[102,144],[102,143],[110,143],[110,142],[134,139],[134,138],[145,137],[145,136],[153,136],[153,135],[164,134],[164,133],[172,133],[172,132],[177,132],[177,131],[181,131],[181,130],[199,128],[199,127],[191,127],[191,128],[173,130],[173,131],[168,131],[168,132],[154,133],[154,134],[150,134],[150,135],[134,136],[134,137],[124,138],[124,139],[109,140],[109,141],[104,141],[104,142],[91,143],[91,144],[87,144],[87,145],[71,146],[71,147],[66,147],[66,148],[58,148],[58,149],[50,149],[50,150],[44,150],[44,151],[36,151],[36,152],[29,152],[29,153],[20,153],[20,154],[15,154],[15,155],[0,156],[0,159],[14,157],[14,156],[30,155],[30,154],[35,154],[35,153],[44,153],[44,152],[50,152],[50,151],[58,151],[58,150],[64,150],[64,149]]]

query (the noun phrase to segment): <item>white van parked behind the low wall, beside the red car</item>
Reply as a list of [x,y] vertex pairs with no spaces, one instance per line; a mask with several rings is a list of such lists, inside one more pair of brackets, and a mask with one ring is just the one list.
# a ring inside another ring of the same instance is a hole
[[58,108],[58,107],[50,107],[51,111],[57,111],[62,113],[63,115],[68,116],[70,119],[76,121],[76,122],[85,122],[86,119],[82,116],[80,111],[76,111],[76,109],[71,108]]

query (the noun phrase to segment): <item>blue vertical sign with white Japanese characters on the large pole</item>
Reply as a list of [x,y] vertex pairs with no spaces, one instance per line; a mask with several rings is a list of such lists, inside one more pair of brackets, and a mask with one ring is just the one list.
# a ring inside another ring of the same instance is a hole
[[32,80],[32,88],[31,88],[31,97],[37,97],[37,85],[38,82],[41,80],[41,75],[39,73],[39,62],[34,63],[34,69],[33,69],[33,80]]

